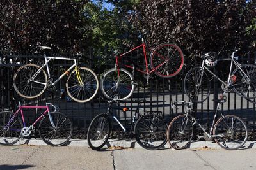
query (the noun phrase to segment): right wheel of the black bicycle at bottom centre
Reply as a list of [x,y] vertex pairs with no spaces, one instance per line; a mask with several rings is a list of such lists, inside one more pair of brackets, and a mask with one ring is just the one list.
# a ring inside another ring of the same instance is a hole
[[157,150],[166,142],[166,129],[163,118],[158,115],[147,115],[137,120],[134,136],[138,144],[147,150]]

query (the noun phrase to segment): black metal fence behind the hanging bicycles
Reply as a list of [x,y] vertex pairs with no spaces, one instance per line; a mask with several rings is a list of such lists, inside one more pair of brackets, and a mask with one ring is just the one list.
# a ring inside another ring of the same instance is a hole
[[[131,60],[136,60],[136,66],[141,67],[141,55],[137,54],[135,57],[129,56],[127,57]],[[83,57],[83,64],[87,67],[91,67],[93,71],[99,76],[111,67],[115,66],[115,61],[113,58],[108,58],[109,62],[103,62],[101,57],[93,57],[90,55],[88,57]],[[241,63],[254,63],[256,59],[256,53],[248,54],[241,58]],[[108,108],[108,103],[106,103],[106,99],[104,99],[99,91],[97,97],[88,103],[76,103],[74,101],[69,101],[67,94],[65,94],[65,81],[66,78],[63,78],[58,83],[56,90],[49,91],[46,90],[44,94],[38,97],[35,100],[25,100],[19,97],[13,89],[13,74],[15,71],[27,63],[35,63],[39,66],[44,62],[44,58],[42,55],[38,56],[20,56],[20,55],[8,55],[4,57],[0,57],[0,111],[1,110],[12,110],[15,111],[17,109],[17,102],[21,101],[24,104],[36,105],[36,104],[45,104],[45,102],[54,103],[60,107],[60,111],[68,115],[72,119],[74,124],[74,136],[73,138],[85,138],[86,131],[95,115],[99,113],[106,112]],[[193,66],[198,64],[198,62],[186,61],[185,67],[175,78],[171,79],[163,79],[158,78],[157,76],[152,76],[150,79],[149,85],[146,83],[146,79],[143,78],[143,75],[140,73],[135,74],[135,81],[138,83],[136,87],[136,91],[132,95],[131,99],[144,99],[145,103],[141,105],[141,108],[148,111],[161,111],[166,122],[170,122],[170,120],[177,114],[182,113],[184,108],[174,108],[172,110],[172,101],[177,100],[188,100],[186,94],[184,94],[183,89],[183,78],[186,72]],[[67,61],[59,61],[54,60],[51,66],[51,74],[54,75],[54,78],[60,76],[63,72],[65,72],[65,67],[70,66],[70,63]],[[216,72],[219,73],[220,76],[225,76],[224,73],[227,73],[225,69],[228,69],[228,64],[218,63],[215,67]],[[225,80],[225,79],[224,79]],[[214,115],[214,106],[216,103],[212,101],[212,99],[216,99],[218,94],[221,94],[221,85],[217,81],[214,81],[214,88],[211,90],[211,95],[207,101],[204,103],[198,103],[195,115],[196,118],[201,120],[205,126],[211,126],[212,118]],[[136,103],[125,103],[118,104],[113,108],[113,112],[122,120],[121,122],[125,125],[131,124],[131,118],[134,113],[127,112],[124,114],[120,108],[122,106],[136,107]],[[204,110],[204,111],[203,111]],[[250,131],[249,140],[255,140],[255,122],[256,122],[256,111],[255,111],[255,101],[254,103],[246,101],[242,97],[237,96],[234,92],[230,92],[227,94],[227,102],[221,106],[220,111],[225,114],[234,114],[237,115],[243,120],[245,120],[248,125],[248,129]],[[35,118],[40,114],[38,110],[26,110],[24,111],[26,115],[26,121],[32,123],[35,121]],[[115,127],[114,127],[115,128]],[[116,126],[115,130],[119,130]],[[198,131],[200,132],[200,131]],[[36,132],[35,132],[36,137]],[[120,137],[121,138],[121,137]]]

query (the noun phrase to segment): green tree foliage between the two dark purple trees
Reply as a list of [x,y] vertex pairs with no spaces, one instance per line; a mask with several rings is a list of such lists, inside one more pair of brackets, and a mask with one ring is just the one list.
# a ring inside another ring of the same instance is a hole
[[[136,0],[99,0],[84,6],[83,12],[90,18],[90,43],[95,55],[106,55],[129,41],[127,36],[132,27],[127,13],[136,3]],[[107,9],[106,4],[111,8]]]

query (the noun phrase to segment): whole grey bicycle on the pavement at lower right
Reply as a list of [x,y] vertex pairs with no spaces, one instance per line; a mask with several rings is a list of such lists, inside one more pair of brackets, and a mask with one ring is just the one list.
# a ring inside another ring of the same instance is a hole
[[172,148],[181,150],[188,148],[193,138],[193,128],[197,124],[202,131],[203,136],[199,136],[199,141],[204,138],[205,141],[215,140],[221,148],[226,150],[237,150],[241,148],[248,139],[248,129],[244,121],[235,115],[223,115],[220,113],[220,118],[216,121],[218,115],[218,109],[221,103],[226,101],[225,92],[221,99],[216,100],[218,102],[212,121],[212,126],[209,132],[204,128],[202,124],[196,120],[191,114],[192,102],[189,101],[177,101],[173,103],[173,106],[186,106],[186,109],[182,115],[178,115],[173,118],[172,122],[168,125],[167,139]]

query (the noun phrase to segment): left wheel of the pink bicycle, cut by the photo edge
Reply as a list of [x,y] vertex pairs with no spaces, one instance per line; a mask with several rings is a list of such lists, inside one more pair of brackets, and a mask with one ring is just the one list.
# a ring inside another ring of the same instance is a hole
[[22,121],[10,111],[0,113],[0,145],[13,145],[22,137]]

